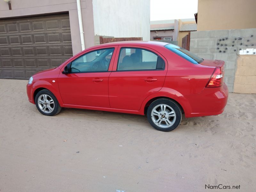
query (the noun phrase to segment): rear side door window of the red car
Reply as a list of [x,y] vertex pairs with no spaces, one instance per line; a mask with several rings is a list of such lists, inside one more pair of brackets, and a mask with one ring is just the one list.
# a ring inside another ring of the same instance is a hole
[[121,48],[117,71],[163,69],[163,63],[162,58],[148,50]]

